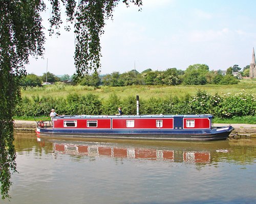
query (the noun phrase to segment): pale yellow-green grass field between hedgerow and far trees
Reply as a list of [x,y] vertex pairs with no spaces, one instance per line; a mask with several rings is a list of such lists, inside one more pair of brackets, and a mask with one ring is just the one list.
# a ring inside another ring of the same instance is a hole
[[183,97],[186,94],[194,95],[197,89],[206,90],[211,94],[218,93],[238,93],[241,90],[256,94],[256,80],[240,80],[239,84],[234,85],[179,85],[179,86],[126,86],[126,87],[104,87],[98,89],[87,86],[67,86],[67,85],[48,85],[45,87],[34,87],[22,90],[22,96],[31,97],[32,95],[66,97],[70,93],[98,95],[99,98],[108,98],[111,93],[115,93],[120,98],[139,95],[143,99],[150,97]]

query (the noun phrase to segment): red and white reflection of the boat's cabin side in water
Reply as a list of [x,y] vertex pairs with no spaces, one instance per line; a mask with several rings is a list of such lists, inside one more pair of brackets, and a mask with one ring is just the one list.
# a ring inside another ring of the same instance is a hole
[[57,154],[84,155],[89,157],[109,157],[121,159],[166,160],[169,162],[210,163],[209,151],[186,151],[166,148],[122,147],[118,144],[74,144],[54,142]]

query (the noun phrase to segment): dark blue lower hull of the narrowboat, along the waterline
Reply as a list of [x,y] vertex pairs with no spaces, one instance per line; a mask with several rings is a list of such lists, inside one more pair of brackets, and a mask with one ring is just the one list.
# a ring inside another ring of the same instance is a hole
[[84,130],[51,129],[37,127],[37,134],[85,138],[154,139],[154,140],[223,140],[232,126],[216,127],[208,130]]

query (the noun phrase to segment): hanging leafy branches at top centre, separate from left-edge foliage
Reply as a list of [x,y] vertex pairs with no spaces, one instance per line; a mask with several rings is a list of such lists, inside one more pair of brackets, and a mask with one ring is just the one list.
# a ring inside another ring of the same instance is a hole
[[[51,0],[53,3],[54,0]],[[76,79],[79,79],[84,73],[88,74],[89,70],[98,71],[100,68],[101,46],[100,36],[104,33],[103,27],[105,19],[112,18],[112,12],[118,5],[119,0],[114,1],[80,1],[75,7],[75,0],[67,1],[70,4],[67,10],[68,20],[74,22],[76,34],[76,48],[75,48],[75,66]],[[124,0],[127,6],[133,3],[137,6],[142,6],[141,0],[129,1]],[[54,17],[59,16],[59,5],[53,6]],[[59,24],[60,19],[54,18],[52,25]]]

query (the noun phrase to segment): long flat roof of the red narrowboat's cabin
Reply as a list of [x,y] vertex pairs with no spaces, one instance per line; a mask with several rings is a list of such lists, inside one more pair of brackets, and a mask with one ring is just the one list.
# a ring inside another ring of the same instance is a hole
[[199,115],[62,115],[55,118],[170,118],[170,117],[212,117],[211,114]]

